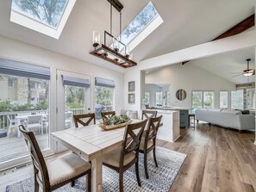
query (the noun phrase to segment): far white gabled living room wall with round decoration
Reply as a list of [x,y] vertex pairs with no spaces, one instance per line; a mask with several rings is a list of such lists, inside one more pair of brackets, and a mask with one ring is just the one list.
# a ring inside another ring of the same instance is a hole
[[[146,84],[172,84],[171,101],[172,107],[191,108],[192,90],[213,90],[215,91],[215,108],[220,105],[220,90],[235,90],[235,84],[217,77],[208,71],[205,71],[197,65],[169,65],[157,71],[147,73],[145,77]],[[176,91],[183,89],[187,93],[184,101],[178,101]]]

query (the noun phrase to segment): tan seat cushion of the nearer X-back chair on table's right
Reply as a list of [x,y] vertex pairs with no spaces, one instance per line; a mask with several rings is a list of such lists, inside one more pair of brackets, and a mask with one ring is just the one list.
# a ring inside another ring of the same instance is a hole
[[[108,152],[107,154],[103,155],[103,163],[104,164],[109,164],[114,167],[120,167],[119,166],[119,161],[120,161],[120,154],[121,154],[121,147]],[[123,159],[123,166],[129,164],[131,161],[136,158],[135,152],[130,152],[126,156],[124,156]]]

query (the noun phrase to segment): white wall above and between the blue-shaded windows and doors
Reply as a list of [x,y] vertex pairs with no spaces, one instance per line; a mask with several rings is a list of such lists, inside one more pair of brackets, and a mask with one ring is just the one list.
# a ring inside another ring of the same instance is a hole
[[[50,45],[49,45],[50,46]],[[91,98],[94,98],[94,78],[103,77],[115,80],[115,109],[119,112],[123,108],[123,73],[111,71],[109,69],[86,63],[82,60],[74,59],[59,53],[53,53],[37,46],[31,46],[21,41],[12,40],[0,36],[0,58],[19,60],[35,65],[46,65],[51,67],[51,101],[55,113],[56,108],[56,70],[71,71],[91,77]],[[1,71],[0,71],[1,72]],[[92,109],[94,103],[91,103]],[[53,119],[56,116],[53,115]]]

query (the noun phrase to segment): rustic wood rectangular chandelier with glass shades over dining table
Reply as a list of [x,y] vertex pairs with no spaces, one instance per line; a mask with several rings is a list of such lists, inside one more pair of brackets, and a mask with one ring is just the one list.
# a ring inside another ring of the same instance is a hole
[[[118,0],[108,0],[110,3],[110,33],[104,31],[104,42],[100,45],[100,33],[93,31],[93,45],[94,50],[91,52],[92,55],[98,58],[107,60],[115,65],[128,68],[137,65],[132,60],[131,54],[129,53],[129,47],[122,43],[122,3]],[[116,38],[112,35],[112,7],[114,7],[120,13],[120,37]],[[107,40],[109,38],[109,41]],[[109,43],[110,42],[110,43]],[[109,46],[108,46],[109,44]]]

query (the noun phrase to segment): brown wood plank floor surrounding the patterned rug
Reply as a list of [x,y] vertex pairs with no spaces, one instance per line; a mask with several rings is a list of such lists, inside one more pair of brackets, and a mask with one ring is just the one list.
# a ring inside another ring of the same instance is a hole
[[[199,123],[196,129],[181,129],[175,143],[158,140],[157,145],[187,154],[170,192],[256,191],[255,133]],[[32,174],[31,167],[0,173],[0,191]]]

